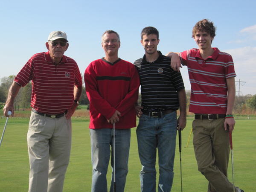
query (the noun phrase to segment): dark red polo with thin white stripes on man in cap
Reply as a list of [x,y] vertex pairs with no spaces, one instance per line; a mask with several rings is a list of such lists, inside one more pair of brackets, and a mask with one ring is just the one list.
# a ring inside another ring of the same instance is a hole
[[76,61],[64,55],[61,62],[55,64],[49,51],[33,55],[14,81],[22,87],[32,81],[31,107],[50,115],[69,110],[74,101],[74,85],[82,86]]

